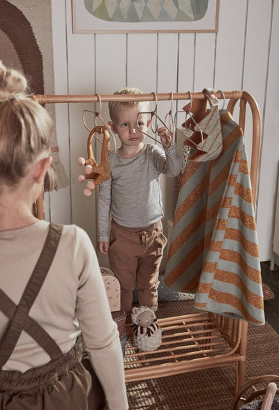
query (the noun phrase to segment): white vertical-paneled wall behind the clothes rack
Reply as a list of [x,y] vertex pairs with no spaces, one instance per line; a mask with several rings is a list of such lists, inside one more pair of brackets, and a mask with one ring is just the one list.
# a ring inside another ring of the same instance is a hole
[[[170,93],[202,91],[210,86],[224,91],[246,89],[255,96],[264,125],[257,201],[261,260],[271,259],[275,219],[279,161],[278,21],[279,0],[221,0],[218,33],[73,34],[71,1],[52,0],[56,94],[111,94],[123,86],[139,86],[146,93]],[[174,109],[181,110],[187,102],[175,103]],[[86,156],[88,132],[82,112],[99,107],[93,103],[56,104],[59,151],[70,186],[50,197],[46,195],[45,200],[47,218],[80,225],[95,245],[96,194],[83,195],[84,187],[77,182],[83,169],[77,165],[77,158]],[[162,118],[169,109],[170,102],[158,103]],[[237,111],[236,108],[236,114]],[[107,103],[102,105],[102,116],[108,121]],[[93,125],[93,120],[92,114],[89,124]],[[249,152],[250,130],[248,113],[245,135]],[[100,153],[97,142],[95,152]],[[166,177],[161,181],[167,234],[173,184]],[[100,264],[107,264],[107,259],[100,257]]]

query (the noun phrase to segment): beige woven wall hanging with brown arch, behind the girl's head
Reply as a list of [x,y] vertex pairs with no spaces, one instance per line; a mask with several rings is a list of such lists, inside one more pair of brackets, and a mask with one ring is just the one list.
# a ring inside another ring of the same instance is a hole
[[[20,70],[29,80],[31,93],[54,94],[51,0],[0,0],[0,59]],[[54,105],[46,105],[55,121]],[[59,160],[56,135],[52,137],[52,167],[56,188],[68,185]]]

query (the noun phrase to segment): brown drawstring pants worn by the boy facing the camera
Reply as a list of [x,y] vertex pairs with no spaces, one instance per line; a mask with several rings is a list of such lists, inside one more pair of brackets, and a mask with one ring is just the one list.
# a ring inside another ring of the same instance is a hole
[[112,221],[110,268],[120,282],[121,304],[127,314],[131,312],[135,284],[141,306],[158,304],[158,275],[166,244],[161,221],[147,228],[126,228]]

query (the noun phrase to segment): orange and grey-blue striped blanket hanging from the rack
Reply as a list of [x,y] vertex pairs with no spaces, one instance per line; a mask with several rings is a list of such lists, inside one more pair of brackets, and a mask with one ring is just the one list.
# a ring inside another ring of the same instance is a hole
[[199,128],[205,137],[191,149],[181,179],[165,284],[195,292],[199,309],[262,325],[262,278],[243,132],[218,107]]

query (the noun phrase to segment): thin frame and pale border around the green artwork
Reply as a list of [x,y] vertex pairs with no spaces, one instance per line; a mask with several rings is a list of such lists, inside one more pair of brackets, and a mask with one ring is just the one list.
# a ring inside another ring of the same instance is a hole
[[[108,10],[114,8],[116,0],[72,0],[72,17],[73,17],[73,33],[216,33],[218,32],[219,23],[219,6],[220,0],[195,0],[197,1],[197,6],[204,1],[206,9],[204,6],[204,16],[199,18],[199,20],[192,21],[150,21],[150,22],[128,22],[125,21],[112,21],[103,20],[103,18],[98,18],[96,15],[104,15],[104,13],[99,10],[94,10],[89,13],[87,8],[94,6],[93,1],[96,1],[97,6],[102,6],[105,8],[105,13]],[[126,0],[126,3],[129,0]],[[139,3],[144,0],[130,0],[131,2],[138,1]],[[154,1],[154,0],[149,0]],[[189,4],[188,0],[185,0],[186,5]],[[86,3],[86,5],[85,5]],[[156,17],[156,9],[154,13],[154,7],[156,8],[155,1],[151,4],[152,17]],[[174,3],[166,3],[167,7],[171,7],[170,13],[175,13]],[[145,6],[145,4],[144,4]],[[148,6],[148,5],[147,5]],[[87,7],[87,8],[86,8]],[[159,9],[159,6],[157,6]],[[158,10],[159,12],[159,10]],[[165,10],[164,10],[165,12]],[[110,16],[107,14],[107,18]]]

